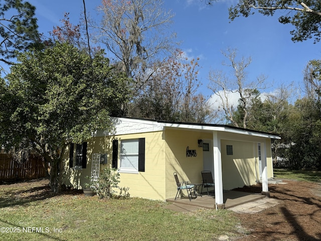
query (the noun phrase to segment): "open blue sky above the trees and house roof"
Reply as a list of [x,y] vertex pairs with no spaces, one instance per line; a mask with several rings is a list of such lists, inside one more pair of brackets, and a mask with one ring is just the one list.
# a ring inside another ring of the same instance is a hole
[[[78,23],[82,10],[82,0],[29,0],[36,6],[36,16],[40,31],[48,35],[53,26],[60,25],[64,13],[70,13],[73,24]],[[165,0],[164,7],[175,14],[172,31],[182,42],[180,48],[188,57],[199,57],[200,78],[203,82],[202,92],[210,95],[207,89],[210,70],[222,69],[226,60],[221,51],[227,48],[238,49],[238,57],[251,57],[252,63],[247,68],[248,78],[254,80],[257,76],[266,75],[271,86],[266,89],[272,92],[281,84],[293,82],[299,90],[302,85],[302,71],[307,62],[321,59],[320,44],[312,40],[293,43],[289,32],[291,25],[278,23],[277,14],[274,17],[255,14],[248,18],[239,17],[230,23],[228,8],[235,0],[218,1],[212,7],[202,0]],[[87,0],[86,10],[94,17],[95,7],[99,0]],[[299,92],[299,91],[298,91]]]

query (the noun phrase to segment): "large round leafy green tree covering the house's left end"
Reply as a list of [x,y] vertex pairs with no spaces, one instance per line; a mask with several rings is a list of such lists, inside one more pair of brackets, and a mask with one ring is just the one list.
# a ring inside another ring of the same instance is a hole
[[6,103],[0,109],[0,143],[7,149],[30,146],[43,156],[58,193],[66,147],[111,128],[109,115],[128,98],[128,79],[102,52],[91,59],[67,43],[19,54],[6,78],[0,89]]

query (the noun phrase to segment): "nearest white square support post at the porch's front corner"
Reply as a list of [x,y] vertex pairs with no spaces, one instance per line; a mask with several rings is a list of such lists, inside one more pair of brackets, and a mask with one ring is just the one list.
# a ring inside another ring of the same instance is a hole
[[218,132],[213,132],[213,158],[216,209],[224,209],[221,139]]

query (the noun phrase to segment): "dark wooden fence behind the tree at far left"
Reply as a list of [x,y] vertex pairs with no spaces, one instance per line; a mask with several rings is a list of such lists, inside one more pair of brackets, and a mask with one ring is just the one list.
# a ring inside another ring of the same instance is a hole
[[32,157],[24,164],[15,162],[11,155],[0,154],[0,181],[46,177],[46,169],[39,157]]

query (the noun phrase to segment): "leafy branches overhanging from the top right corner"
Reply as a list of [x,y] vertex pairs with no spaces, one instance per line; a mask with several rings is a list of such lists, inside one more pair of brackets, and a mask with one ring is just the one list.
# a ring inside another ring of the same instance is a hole
[[[207,0],[208,3],[219,0]],[[293,42],[301,42],[314,38],[314,43],[321,37],[321,2],[319,0],[239,0],[229,8],[229,18],[233,21],[240,15],[248,17],[254,11],[266,16],[273,16],[276,11],[283,15],[278,21],[282,24],[292,24],[294,30],[290,33]]]

